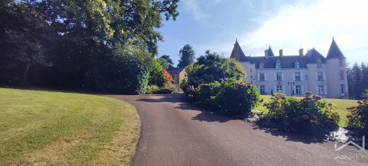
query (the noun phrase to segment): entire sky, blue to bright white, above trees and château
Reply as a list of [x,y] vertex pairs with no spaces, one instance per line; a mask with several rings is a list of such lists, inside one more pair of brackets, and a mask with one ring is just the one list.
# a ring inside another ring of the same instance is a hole
[[364,0],[181,0],[176,21],[159,31],[159,55],[177,64],[180,48],[192,45],[229,57],[235,39],[246,55],[260,56],[271,45],[275,54],[297,55],[316,48],[327,55],[334,37],[347,62],[368,62],[368,1]]

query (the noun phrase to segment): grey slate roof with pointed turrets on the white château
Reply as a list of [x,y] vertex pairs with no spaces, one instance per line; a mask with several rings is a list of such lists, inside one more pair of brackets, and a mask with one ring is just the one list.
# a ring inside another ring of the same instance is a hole
[[[334,40],[333,40],[333,43]],[[337,46],[337,45],[336,45]],[[331,46],[335,47],[335,46]],[[336,48],[333,48],[336,50]],[[340,49],[338,49],[340,51]],[[299,67],[306,67],[307,64],[317,63],[318,59],[321,60],[322,63],[326,63],[326,57],[323,57],[320,52],[318,52],[315,48],[306,52],[306,55],[284,55],[282,57],[275,56],[272,52],[271,47],[269,46],[268,50],[265,50],[268,53],[268,57],[258,56],[251,57],[246,56],[241,50],[238,41],[234,44],[233,51],[231,52],[232,58],[235,58],[239,62],[251,62],[251,64],[255,64],[255,68],[260,68],[260,63],[263,63],[263,68],[276,68],[276,62],[280,62],[281,68],[294,68],[296,62],[299,63]],[[342,55],[342,54],[341,54]]]

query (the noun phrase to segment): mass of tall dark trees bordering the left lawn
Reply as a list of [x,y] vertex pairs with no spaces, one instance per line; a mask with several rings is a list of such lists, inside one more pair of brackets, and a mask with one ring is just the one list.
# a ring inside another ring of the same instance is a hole
[[144,93],[163,39],[158,29],[176,20],[177,7],[178,0],[0,1],[0,84]]

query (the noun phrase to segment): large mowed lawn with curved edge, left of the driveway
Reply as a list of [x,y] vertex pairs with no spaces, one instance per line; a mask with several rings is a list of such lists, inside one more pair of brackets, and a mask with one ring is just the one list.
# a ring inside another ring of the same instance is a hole
[[130,165],[139,133],[117,99],[0,88],[0,165]]

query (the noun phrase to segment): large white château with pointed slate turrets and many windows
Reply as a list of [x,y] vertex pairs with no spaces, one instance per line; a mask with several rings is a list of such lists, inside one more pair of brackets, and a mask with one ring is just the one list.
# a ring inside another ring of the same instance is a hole
[[315,48],[305,55],[302,48],[299,55],[284,55],[280,50],[277,56],[270,46],[264,56],[251,57],[244,55],[237,40],[230,57],[241,63],[247,72],[245,79],[255,84],[260,94],[281,91],[303,96],[313,92],[325,98],[349,98],[346,59],[334,39],[326,57]]

